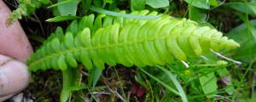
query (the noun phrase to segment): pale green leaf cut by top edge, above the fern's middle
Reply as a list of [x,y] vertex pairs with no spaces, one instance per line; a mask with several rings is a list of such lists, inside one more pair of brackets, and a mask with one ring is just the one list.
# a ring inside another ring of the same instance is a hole
[[146,4],[152,8],[163,8],[169,6],[169,0],[146,0]]

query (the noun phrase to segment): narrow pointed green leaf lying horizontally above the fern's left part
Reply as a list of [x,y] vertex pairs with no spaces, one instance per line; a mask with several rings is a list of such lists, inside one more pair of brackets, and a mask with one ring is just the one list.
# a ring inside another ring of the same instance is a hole
[[77,16],[73,15],[61,15],[61,16],[56,16],[54,18],[50,18],[48,20],[45,20],[47,22],[59,22],[59,21],[64,21],[64,20],[76,20],[79,19]]

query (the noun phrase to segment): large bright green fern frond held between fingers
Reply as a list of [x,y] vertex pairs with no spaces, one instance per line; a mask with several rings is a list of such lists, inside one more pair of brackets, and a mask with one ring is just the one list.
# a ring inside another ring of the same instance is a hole
[[65,71],[78,62],[91,69],[104,64],[125,66],[166,65],[174,59],[207,54],[240,45],[208,26],[191,20],[179,20],[165,14],[132,12],[139,15],[160,15],[159,19],[135,20],[100,14],[74,20],[66,34],[61,28],[28,59],[29,70]]

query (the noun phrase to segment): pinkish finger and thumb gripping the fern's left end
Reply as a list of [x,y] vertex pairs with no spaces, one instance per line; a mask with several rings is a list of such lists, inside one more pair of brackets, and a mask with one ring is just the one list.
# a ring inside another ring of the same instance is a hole
[[[26,59],[32,54],[32,47],[20,23],[6,26],[9,8],[0,1],[0,101],[8,99],[26,88],[29,73]],[[10,56],[10,57],[9,57]],[[11,58],[13,57],[13,58]],[[21,62],[22,61],[22,62]]]

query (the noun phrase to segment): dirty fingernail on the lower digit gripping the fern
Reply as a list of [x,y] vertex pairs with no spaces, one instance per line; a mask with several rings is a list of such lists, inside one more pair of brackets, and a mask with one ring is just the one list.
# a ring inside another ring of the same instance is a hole
[[26,88],[29,82],[26,68],[24,63],[0,54],[0,97],[16,94]]

